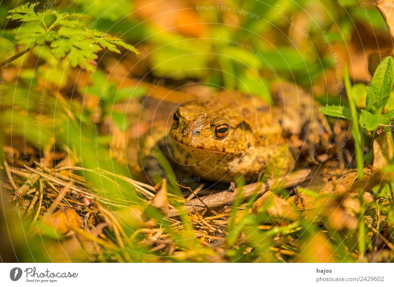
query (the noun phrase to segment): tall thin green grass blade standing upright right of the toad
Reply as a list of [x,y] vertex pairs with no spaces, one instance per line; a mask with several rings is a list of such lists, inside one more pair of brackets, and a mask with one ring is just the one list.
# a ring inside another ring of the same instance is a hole
[[[362,156],[362,150],[361,150],[361,134],[360,134],[360,129],[359,129],[359,115],[357,113],[357,108],[356,108],[356,103],[355,103],[355,95],[352,95],[351,93],[351,83],[349,79],[349,71],[348,71],[348,66],[347,64],[345,65],[344,69],[344,82],[345,82],[345,89],[346,89],[346,95],[348,96],[349,100],[349,108],[350,112],[352,114],[352,121],[351,121],[351,129],[352,129],[352,136],[354,138],[354,148],[355,148],[355,153],[356,153],[356,164],[357,164],[357,169],[358,169],[358,175],[359,175],[359,180],[362,180],[363,177],[363,168],[364,168],[364,162],[363,162],[363,156]],[[364,222],[364,211],[365,211],[365,204],[363,200],[363,192],[364,190],[361,188],[359,191],[359,200],[360,200],[360,206],[361,206],[361,211],[360,211],[360,217],[359,217],[359,254],[360,257],[359,259],[362,259],[364,256],[365,250],[366,250],[366,237],[365,237],[365,222]]]

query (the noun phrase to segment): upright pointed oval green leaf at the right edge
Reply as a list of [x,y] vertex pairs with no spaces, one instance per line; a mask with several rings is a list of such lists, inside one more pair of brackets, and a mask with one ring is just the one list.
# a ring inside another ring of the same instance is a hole
[[366,97],[366,109],[373,114],[380,113],[389,100],[394,83],[394,60],[385,58],[376,68]]

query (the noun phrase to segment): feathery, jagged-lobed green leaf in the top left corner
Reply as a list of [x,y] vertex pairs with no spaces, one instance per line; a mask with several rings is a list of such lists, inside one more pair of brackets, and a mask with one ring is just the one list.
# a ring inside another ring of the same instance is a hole
[[102,49],[120,54],[120,48],[139,54],[138,50],[113,35],[90,29],[81,21],[84,15],[61,13],[55,10],[34,11],[36,3],[25,3],[9,11],[7,17],[22,22],[11,31],[18,45],[26,50],[49,44],[56,58],[68,57],[71,66],[88,71],[95,68],[94,61]]

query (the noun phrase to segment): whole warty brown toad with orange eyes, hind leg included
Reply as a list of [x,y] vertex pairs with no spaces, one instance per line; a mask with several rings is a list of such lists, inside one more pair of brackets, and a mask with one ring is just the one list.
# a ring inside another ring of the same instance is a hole
[[166,176],[154,156],[159,149],[182,178],[231,182],[243,176],[252,182],[262,173],[264,178],[285,175],[317,143],[329,145],[332,133],[319,104],[292,83],[271,87],[271,105],[256,96],[204,86],[187,95],[169,108],[162,101],[154,105],[162,119],[153,121],[139,150],[143,172],[154,182]]

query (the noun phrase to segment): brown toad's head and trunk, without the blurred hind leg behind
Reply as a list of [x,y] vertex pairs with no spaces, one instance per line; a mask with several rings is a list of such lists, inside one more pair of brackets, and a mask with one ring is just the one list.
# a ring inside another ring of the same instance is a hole
[[166,154],[181,169],[210,181],[283,175],[295,160],[281,118],[281,109],[258,97],[223,92],[188,100],[175,112]]

